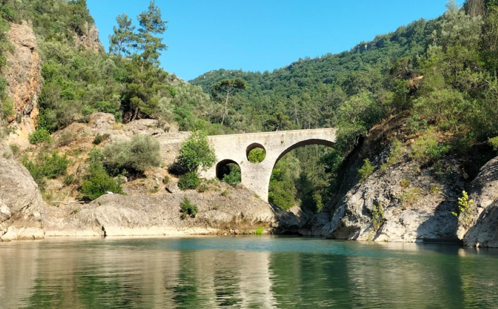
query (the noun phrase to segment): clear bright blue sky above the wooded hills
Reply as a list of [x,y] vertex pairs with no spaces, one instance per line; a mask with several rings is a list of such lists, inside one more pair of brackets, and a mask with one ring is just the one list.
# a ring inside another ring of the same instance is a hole
[[[126,13],[136,22],[148,2],[87,0],[106,48],[116,16]],[[156,0],[169,21],[163,35],[168,50],[160,61],[185,80],[221,68],[271,72],[306,56],[349,50],[415,19],[437,17],[446,2]]]

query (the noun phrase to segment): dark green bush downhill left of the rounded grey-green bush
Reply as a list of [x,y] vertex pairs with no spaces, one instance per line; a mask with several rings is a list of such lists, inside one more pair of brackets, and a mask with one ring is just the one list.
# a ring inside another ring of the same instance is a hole
[[108,191],[116,194],[124,194],[121,184],[107,174],[101,162],[90,164],[85,179],[81,185],[81,193],[87,200],[93,201]]

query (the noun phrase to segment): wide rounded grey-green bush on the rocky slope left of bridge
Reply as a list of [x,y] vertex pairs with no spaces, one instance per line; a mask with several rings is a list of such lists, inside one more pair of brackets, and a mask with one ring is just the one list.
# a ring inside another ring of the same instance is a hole
[[134,135],[130,141],[107,144],[102,153],[104,166],[113,176],[124,171],[141,174],[148,168],[161,164],[159,142],[146,135]]

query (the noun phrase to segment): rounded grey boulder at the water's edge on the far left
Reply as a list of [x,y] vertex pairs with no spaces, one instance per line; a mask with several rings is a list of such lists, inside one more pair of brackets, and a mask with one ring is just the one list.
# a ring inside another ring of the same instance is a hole
[[0,240],[43,238],[43,199],[29,172],[0,158]]

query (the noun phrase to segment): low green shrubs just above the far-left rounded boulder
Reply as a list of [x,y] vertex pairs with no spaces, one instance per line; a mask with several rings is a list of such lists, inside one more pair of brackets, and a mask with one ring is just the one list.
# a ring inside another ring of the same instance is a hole
[[59,156],[56,150],[51,154],[47,154],[42,149],[34,161],[29,161],[26,157],[23,157],[21,163],[29,171],[40,190],[44,190],[47,179],[66,175],[69,160],[66,155]]

